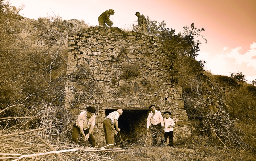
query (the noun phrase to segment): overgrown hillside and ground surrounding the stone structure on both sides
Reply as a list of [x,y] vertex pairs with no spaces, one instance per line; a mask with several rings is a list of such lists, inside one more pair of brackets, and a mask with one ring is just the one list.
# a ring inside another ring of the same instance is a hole
[[54,161],[256,160],[256,86],[204,71],[204,62],[195,60],[200,42],[194,41],[204,29],[192,23],[175,35],[163,23],[160,31],[149,27],[172,62],[167,74],[182,86],[192,136],[179,136],[173,148],[145,144],[150,134],[140,140],[122,136],[123,142],[117,136],[109,152],[101,144],[90,149],[82,139],[81,145],[72,143],[70,123],[77,116],[64,108],[65,83],[74,81],[66,75],[68,35],[89,26],[61,17],[27,19],[8,4],[0,12],[1,160],[30,154],[27,159]]

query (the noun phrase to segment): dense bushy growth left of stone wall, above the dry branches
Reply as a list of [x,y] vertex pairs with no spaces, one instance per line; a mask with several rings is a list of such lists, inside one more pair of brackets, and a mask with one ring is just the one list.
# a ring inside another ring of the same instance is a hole
[[31,102],[61,104],[69,27],[60,17],[23,18],[22,6],[0,2],[1,115],[23,115]]

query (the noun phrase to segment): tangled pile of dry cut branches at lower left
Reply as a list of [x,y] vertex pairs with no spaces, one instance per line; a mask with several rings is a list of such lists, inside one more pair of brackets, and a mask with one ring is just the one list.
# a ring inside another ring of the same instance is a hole
[[44,105],[24,117],[0,118],[0,160],[110,161],[113,159],[107,156],[109,152],[125,151],[109,146],[89,148],[69,142],[66,133],[72,117],[59,117],[58,113],[56,107]]

